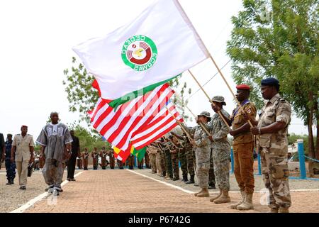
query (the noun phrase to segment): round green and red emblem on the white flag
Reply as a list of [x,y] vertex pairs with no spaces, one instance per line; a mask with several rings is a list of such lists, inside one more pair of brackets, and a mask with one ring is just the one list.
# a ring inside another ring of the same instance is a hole
[[134,35],[125,41],[122,48],[122,60],[133,70],[150,69],[157,59],[155,43],[145,35]]

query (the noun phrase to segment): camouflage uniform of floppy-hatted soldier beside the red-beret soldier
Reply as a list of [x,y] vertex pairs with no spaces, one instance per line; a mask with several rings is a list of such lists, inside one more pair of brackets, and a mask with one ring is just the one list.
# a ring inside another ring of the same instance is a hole
[[[223,112],[224,116],[229,118],[230,115],[224,109],[221,109],[220,111]],[[213,135],[213,165],[216,184],[219,189],[229,191],[230,143],[227,138],[229,128],[218,114],[213,116],[211,128],[211,133]]]

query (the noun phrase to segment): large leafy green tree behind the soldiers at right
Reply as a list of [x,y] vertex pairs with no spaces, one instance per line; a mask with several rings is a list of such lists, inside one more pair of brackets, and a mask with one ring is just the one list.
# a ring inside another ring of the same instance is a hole
[[[243,0],[244,10],[233,16],[227,52],[233,79],[254,89],[252,100],[262,107],[259,84],[276,77],[281,95],[308,126],[309,154],[319,157],[312,126],[319,134],[318,0]],[[316,145],[315,145],[316,144]]]

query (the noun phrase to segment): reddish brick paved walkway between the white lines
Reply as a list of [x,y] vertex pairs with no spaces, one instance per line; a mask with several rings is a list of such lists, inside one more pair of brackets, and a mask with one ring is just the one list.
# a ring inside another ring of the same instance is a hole
[[[57,196],[56,201],[49,196],[25,212],[240,212],[230,209],[230,204],[213,204],[209,198],[197,198],[128,170],[84,171],[76,182],[68,182],[63,189],[65,192]],[[291,195],[291,212],[318,212],[319,192],[292,192]],[[230,196],[235,203],[240,194]],[[262,194],[254,195],[255,210],[244,212],[267,212],[267,206],[259,203],[260,196]]]

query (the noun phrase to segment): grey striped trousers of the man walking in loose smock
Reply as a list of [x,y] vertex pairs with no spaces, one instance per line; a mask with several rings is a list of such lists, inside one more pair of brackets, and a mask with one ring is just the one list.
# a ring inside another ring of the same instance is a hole
[[45,166],[42,173],[45,179],[45,183],[49,186],[61,187],[63,178],[63,163],[51,158],[45,159]]

